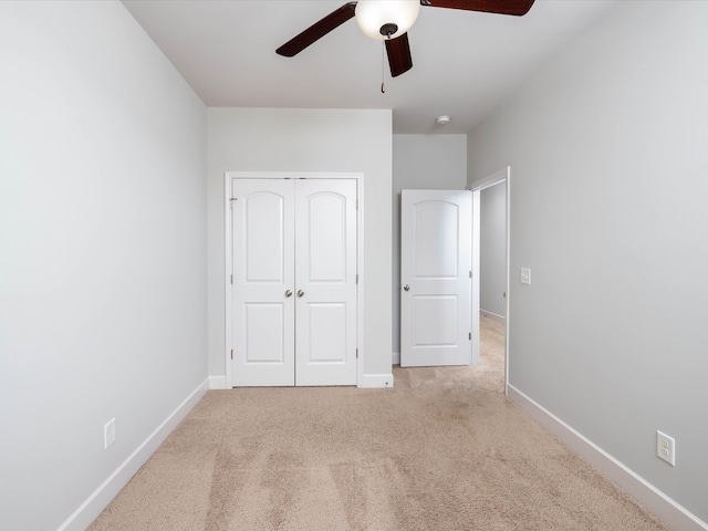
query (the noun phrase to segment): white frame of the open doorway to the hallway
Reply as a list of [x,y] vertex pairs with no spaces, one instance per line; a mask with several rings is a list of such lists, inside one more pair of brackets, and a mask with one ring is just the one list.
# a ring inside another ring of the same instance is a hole
[[[507,300],[506,300],[506,315],[504,315],[504,396],[509,396],[509,300],[511,293],[509,292],[509,279],[510,279],[510,263],[511,263],[511,167],[507,166],[494,171],[487,177],[475,181],[468,186],[467,189],[472,191],[472,333],[477,332],[479,336],[479,298],[480,298],[480,275],[479,275],[479,257],[480,257],[480,217],[479,207],[481,204],[481,191],[486,188],[492,187],[506,183],[507,185]],[[476,212],[476,214],[475,214]],[[477,269],[475,269],[477,268]],[[479,351],[478,351],[479,352]]]

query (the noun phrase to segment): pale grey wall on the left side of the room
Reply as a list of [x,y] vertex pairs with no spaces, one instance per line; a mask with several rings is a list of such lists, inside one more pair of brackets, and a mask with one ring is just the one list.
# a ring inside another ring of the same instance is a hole
[[117,2],[0,2],[0,528],[48,531],[206,382],[206,108]]

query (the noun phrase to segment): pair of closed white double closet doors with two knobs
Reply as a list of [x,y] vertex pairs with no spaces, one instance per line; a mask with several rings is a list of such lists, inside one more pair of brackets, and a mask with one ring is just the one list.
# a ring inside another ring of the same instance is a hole
[[233,179],[233,386],[356,384],[356,180]]

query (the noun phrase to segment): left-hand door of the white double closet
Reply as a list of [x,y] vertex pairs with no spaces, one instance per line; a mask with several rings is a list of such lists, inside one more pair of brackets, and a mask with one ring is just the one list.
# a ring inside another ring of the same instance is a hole
[[232,190],[233,386],[294,385],[293,181]]

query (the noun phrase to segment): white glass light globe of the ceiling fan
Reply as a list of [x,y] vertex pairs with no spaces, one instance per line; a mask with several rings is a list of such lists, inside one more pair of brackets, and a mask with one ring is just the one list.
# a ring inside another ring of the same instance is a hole
[[366,37],[384,41],[407,32],[419,11],[419,0],[358,0],[355,17]]

